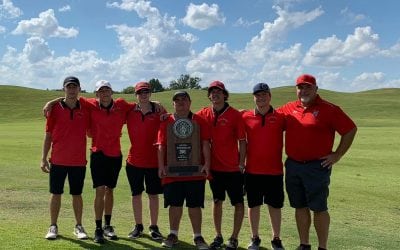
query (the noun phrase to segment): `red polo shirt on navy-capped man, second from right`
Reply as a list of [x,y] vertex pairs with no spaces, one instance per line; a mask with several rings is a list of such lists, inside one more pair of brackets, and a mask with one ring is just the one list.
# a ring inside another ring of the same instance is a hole
[[247,136],[246,173],[283,174],[284,115],[271,107],[265,115],[249,110],[242,117]]

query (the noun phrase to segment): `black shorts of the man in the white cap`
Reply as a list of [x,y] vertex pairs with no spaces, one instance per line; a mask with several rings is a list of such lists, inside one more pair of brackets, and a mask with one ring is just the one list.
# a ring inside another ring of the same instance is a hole
[[117,157],[104,155],[103,152],[90,154],[90,172],[92,173],[93,188],[117,186],[119,171],[122,167],[122,155]]

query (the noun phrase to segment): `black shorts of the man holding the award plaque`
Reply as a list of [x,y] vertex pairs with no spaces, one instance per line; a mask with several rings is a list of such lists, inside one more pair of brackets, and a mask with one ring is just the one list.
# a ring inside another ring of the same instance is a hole
[[186,200],[186,207],[204,208],[205,180],[177,181],[164,185],[164,207],[182,207]]

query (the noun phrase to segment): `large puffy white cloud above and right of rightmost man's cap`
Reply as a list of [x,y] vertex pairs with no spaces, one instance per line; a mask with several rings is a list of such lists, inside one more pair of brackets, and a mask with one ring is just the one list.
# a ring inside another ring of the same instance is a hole
[[335,35],[319,39],[311,46],[304,58],[306,65],[342,67],[355,59],[375,55],[379,52],[379,36],[371,27],[358,27],[345,41]]

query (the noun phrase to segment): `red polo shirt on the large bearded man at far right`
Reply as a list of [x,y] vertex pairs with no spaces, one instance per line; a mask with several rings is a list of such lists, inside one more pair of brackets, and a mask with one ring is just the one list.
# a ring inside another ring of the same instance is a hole
[[285,104],[279,112],[286,117],[286,154],[296,161],[316,160],[332,153],[335,132],[344,135],[356,127],[341,108],[319,95],[308,108],[297,100]]

